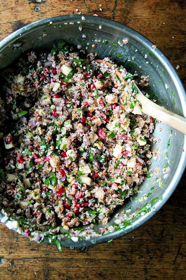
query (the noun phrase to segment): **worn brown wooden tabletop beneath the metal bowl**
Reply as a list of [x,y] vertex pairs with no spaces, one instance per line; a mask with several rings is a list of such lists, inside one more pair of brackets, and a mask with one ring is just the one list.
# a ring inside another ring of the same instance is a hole
[[[174,67],[180,66],[186,86],[186,1],[36,1],[0,0],[0,39],[27,23],[78,9],[115,19],[145,35]],[[184,279],[185,184],[183,177],[166,205],[137,231],[84,253],[68,248],[60,253],[53,245],[30,242],[0,224],[0,279]]]

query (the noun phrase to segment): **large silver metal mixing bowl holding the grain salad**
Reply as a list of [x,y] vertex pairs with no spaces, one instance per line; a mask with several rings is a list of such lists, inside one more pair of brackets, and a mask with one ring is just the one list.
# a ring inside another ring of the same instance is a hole
[[[153,49],[152,42],[135,30],[115,21],[84,16],[85,20],[82,20],[82,15],[56,16],[34,22],[15,31],[0,42],[0,68],[12,63],[28,49],[50,49],[54,43],[63,38],[72,44],[81,45],[86,52],[97,53],[99,58],[110,57],[131,73],[136,70],[139,77],[149,75],[150,84],[145,91],[149,95],[155,92],[158,96],[158,104],[166,109],[182,116],[186,114],[186,96],[178,74],[162,52],[157,48]],[[86,35],[86,38],[82,35]],[[121,38],[126,38],[129,43],[120,46],[117,42]],[[132,60],[132,57],[135,59]],[[148,221],[166,203],[184,172],[186,153],[183,149],[186,137],[174,129],[171,134],[171,128],[163,123],[156,124],[154,137],[161,139],[161,142],[153,144],[154,148],[159,147],[161,153],[158,160],[152,160],[149,169],[155,170],[158,166],[160,173],[156,175],[153,172],[153,177],[147,178],[140,186],[140,192],[132,199],[128,199],[117,211],[120,214],[122,210],[130,209],[128,216],[135,213],[131,223],[125,224],[122,230],[117,228],[111,233],[90,240],[81,239],[74,242],[64,238],[61,240],[61,245],[91,246],[123,236]],[[168,142],[170,146],[167,145]],[[164,166],[167,166],[167,161],[168,173],[165,175],[163,170]],[[157,182],[156,177],[161,178],[163,183]],[[152,207],[148,208],[144,205]],[[110,226],[115,225],[115,219],[113,215],[109,222]],[[100,232],[99,227],[102,225],[96,225],[95,231]],[[45,238],[44,242],[48,243],[49,240]]]

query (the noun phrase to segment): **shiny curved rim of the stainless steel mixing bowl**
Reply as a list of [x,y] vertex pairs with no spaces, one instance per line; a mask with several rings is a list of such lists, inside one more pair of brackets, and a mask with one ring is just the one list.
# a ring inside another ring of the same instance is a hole
[[[120,30],[124,30],[126,34],[129,34],[130,36],[139,40],[141,43],[143,43],[145,45],[146,48],[148,48],[152,51],[152,45],[154,45],[154,44],[150,40],[148,40],[146,37],[141,35],[139,32],[135,31],[134,29],[132,29],[128,26],[125,26],[121,23],[118,23],[116,21],[109,20],[109,19],[106,19],[106,18],[103,18],[100,16],[73,15],[73,14],[64,15],[64,16],[54,16],[54,17],[50,17],[50,18],[46,18],[43,20],[39,20],[39,21],[30,23],[30,24],[16,30],[15,32],[11,33],[6,38],[4,38],[0,42],[0,50],[4,49],[9,44],[12,44],[15,40],[19,39],[20,35],[22,36],[24,34],[27,34],[28,31],[32,31],[32,30],[36,29],[37,27],[45,26],[47,23],[50,23],[51,21],[53,24],[59,23],[59,22],[65,22],[65,21],[67,21],[67,22],[81,21],[82,16],[84,16],[86,18],[85,22],[92,22],[92,23],[97,23],[100,25],[104,24],[104,25],[108,25],[108,26],[114,26]],[[182,101],[184,112],[186,112],[186,92],[185,92],[184,86],[183,86],[177,72],[175,71],[175,69],[169,62],[169,60],[166,58],[166,56],[158,48],[154,49],[153,54],[158,57],[158,59],[163,63],[164,67],[166,68],[167,72],[169,72],[169,74],[171,75],[171,78],[172,78],[173,82],[175,83],[177,90],[179,91],[179,97]],[[186,141],[186,137],[184,139]],[[174,178],[173,178],[171,184],[168,186],[168,188],[166,189],[166,191],[164,193],[163,200],[157,201],[154,204],[153,210],[151,210],[148,214],[141,216],[137,221],[133,222],[131,226],[126,227],[125,231],[120,230],[117,232],[109,233],[107,235],[95,237],[91,240],[79,240],[77,243],[75,243],[72,240],[61,240],[60,241],[61,245],[68,246],[68,247],[70,247],[70,246],[72,246],[72,247],[74,247],[74,246],[75,247],[91,246],[94,244],[107,242],[108,240],[112,240],[112,239],[116,239],[118,237],[124,236],[127,233],[134,231],[139,226],[142,226],[151,217],[153,217],[153,215],[157,211],[159,211],[160,208],[162,208],[162,206],[170,198],[171,194],[174,192],[176,186],[178,185],[179,180],[181,179],[181,176],[183,175],[185,167],[186,167],[186,152],[184,152],[181,156],[179,170],[176,170],[176,173],[174,175]],[[44,242],[49,243],[48,240],[45,240]]]

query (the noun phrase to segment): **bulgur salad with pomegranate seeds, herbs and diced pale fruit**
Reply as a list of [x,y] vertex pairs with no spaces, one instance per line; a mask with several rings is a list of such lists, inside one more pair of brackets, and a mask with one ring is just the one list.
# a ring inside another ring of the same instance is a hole
[[61,42],[24,54],[1,82],[2,208],[29,221],[28,236],[107,224],[151,163],[154,122],[133,76]]

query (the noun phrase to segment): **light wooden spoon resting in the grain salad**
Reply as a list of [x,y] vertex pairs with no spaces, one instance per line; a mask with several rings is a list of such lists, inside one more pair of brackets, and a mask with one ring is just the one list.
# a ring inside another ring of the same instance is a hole
[[[106,63],[109,67],[111,67],[113,64],[109,63],[108,61],[104,62],[104,60],[97,59],[95,62],[99,63]],[[123,77],[121,75],[121,72],[116,69],[116,75],[118,78],[123,80]],[[123,80],[123,82],[125,82]],[[159,121],[162,121],[165,124],[168,124],[169,126],[175,128],[176,130],[180,131],[181,133],[186,134],[186,118],[181,117],[175,113],[172,113],[165,108],[157,105],[153,101],[149,100],[147,97],[143,95],[143,93],[140,91],[138,86],[134,83],[134,86],[136,87],[138,93],[136,94],[137,99],[141,103],[141,111],[144,114],[148,114],[149,116],[158,119]]]

